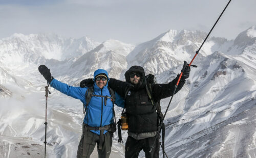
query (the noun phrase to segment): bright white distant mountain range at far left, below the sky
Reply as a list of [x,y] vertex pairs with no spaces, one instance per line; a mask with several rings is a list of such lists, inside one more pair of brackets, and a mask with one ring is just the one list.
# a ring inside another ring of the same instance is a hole
[[89,37],[65,39],[55,34],[13,34],[0,40],[0,60],[6,65],[41,63],[45,59],[63,61],[78,58],[99,44]]

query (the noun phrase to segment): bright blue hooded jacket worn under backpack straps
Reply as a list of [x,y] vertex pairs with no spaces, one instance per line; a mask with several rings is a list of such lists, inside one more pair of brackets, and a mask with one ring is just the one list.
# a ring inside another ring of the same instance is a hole
[[[95,76],[100,74],[100,73],[105,73],[108,75],[108,72],[102,69],[98,69],[94,73],[94,79]],[[108,76],[107,76],[108,77]],[[71,96],[73,98],[79,99],[82,101],[82,103],[86,104],[86,91],[88,88],[80,88],[80,87],[72,87],[67,84],[61,83],[57,81],[56,79],[53,79],[52,82],[50,83],[51,87],[55,88],[56,90],[60,91],[63,94],[66,94],[68,96]],[[100,89],[96,83],[94,83],[94,92],[93,94],[95,95],[103,95],[103,96],[111,96],[109,89],[108,89],[108,83]],[[124,100],[120,95],[118,95],[115,92],[115,104],[118,107],[124,107]],[[89,126],[92,127],[102,127],[108,124],[111,124],[114,122],[113,119],[113,103],[110,98],[106,100],[106,106],[104,105],[104,98],[102,97],[97,97],[97,96],[92,96],[91,101],[87,107],[87,112],[86,116],[83,119],[83,122],[88,124]],[[100,134],[99,130],[91,130],[95,134]],[[104,134],[107,131],[104,131]]]

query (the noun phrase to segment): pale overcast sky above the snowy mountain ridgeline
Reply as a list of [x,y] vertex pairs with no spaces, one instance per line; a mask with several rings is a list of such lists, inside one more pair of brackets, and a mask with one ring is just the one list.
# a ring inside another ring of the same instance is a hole
[[[0,39],[55,33],[137,44],[173,30],[209,32],[228,0],[0,0]],[[211,36],[234,39],[256,25],[256,1],[232,0]]]

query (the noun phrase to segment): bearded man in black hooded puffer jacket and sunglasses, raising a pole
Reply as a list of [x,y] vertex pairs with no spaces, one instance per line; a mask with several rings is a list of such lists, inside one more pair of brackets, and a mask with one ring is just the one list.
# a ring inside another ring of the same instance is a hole
[[[185,84],[188,78],[190,67],[184,64],[184,71],[176,93]],[[110,78],[109,86],[119,95],[125,98],[125,111],[128,117],[128,138],[125,143],[125,157],[138,157],[143,150],[146,158],[159,157],[159,136],[155,146],[150,152],[154,143],[159,126],[156,107],[153,106],[151,99],[146,91],[146,78],[144,69],[140,66],[132,66],[125,72],[126,82]],[[162,98],[172,96],[179,75],[168,84],[152,84],[152,98],[155,102]]]

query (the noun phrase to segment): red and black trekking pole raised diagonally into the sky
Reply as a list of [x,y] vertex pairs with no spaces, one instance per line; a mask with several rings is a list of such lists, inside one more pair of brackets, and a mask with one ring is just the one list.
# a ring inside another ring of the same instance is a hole
[[[199,47],[199,49],[196,51],[196,55],[194,56],[194,58],[191,60],[191,62],[190,62],[189,65],[188,65],[189,67],[190,67],[190,65],[192,64],[192,62],[194,61],[194,59],[196,58],[196,56],[198,55],[198,53],[199,53],[200,49],[202,48],[204,42],[205,42],[206,39],[209,37],[211,31],[214,29],[215,25],[217,24],[217,22],[218,22],[219,19],[221,18],[222,14],[223,14],[224,11],[226,10],[226,8],[227,8],[227,6],[229,5],[230,2],[231,2],[231,0],[229,0],[229,2],[227,3],[226,7],[225,7],[224,10],[222,11],[221,15],[219,16],[219,18],[218,18],[217,21],[215,22],[214,26],[211,28],[210,32],[208,33],[208,35],[207,35],[206,38],[204,39],[203,43],[201,44],[201,46]],[[175,85],[175,89],[174,89],[173,95],[172,95],[172,97],[170,98],[169,104],[168,104],[167,109],[166,109],[166,111],[165,111],[165,113],[164,113],[163,120],[164,120],[164,118],[165,118],[165,116],[166,116],[166,114],[167,114],[167,111],[168,111],[168,109],[169,109],[170,102],[172,102],[172,100],[173,100],[174,94],[175,94],[175,92],[176,92],[177,86],[179,85],[180,78],[181,78],[182,74],[183,74],[183,72],[181,71],[180,76],[179,76],[179,79],[178,79],[178,81],[177,81],[177,84]],[[160,127],[161,127],[162,124],[163,124],[163,120],[161,121]],[[154,148],[154,145],[155,145],[155,142],[156,142],[156,139],[157,139],[157,136],[159,135],[159,133],[160,133],[160,128],[159,128],[158,131],[157,131],[157,135],[156,135],[156,138],[155,138],[155,140],[154,140],[154,143],[153,143],[153,145],[152,145],[152,147],[151,147],[151,149],[150,149],[150,152],[151,152],[152,149]]]

